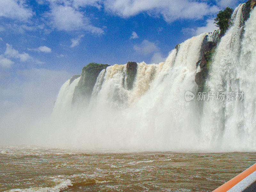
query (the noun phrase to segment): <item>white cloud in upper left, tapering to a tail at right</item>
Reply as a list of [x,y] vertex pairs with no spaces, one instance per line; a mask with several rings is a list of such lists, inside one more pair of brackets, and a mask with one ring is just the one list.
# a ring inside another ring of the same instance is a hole
[[94,27],[82,12],[77,11],[72,6],[53,3],[51,8],[52,25],[58,30],[85,30],[98,35],[104,33],[101,28]]

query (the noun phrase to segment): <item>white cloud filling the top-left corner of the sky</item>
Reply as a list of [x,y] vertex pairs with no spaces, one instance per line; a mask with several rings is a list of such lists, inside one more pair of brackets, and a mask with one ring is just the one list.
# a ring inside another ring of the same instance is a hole
[[27,8],[24,1],[0,0],[0,17],[28,20],[32,16],[33,12]]

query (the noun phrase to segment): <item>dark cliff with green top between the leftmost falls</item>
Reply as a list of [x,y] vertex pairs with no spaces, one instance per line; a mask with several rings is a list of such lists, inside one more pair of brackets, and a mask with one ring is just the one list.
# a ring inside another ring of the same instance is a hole
[[81,78],[75,88],[72,103],[89,100],[91,98],[92,90],[100,71],[106,69],[108,66],[109,65],[90,63],[82,69]]

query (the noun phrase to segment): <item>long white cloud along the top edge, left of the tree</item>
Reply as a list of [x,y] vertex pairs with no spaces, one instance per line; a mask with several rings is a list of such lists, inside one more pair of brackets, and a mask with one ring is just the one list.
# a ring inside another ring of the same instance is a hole
[[172,22],[179,19],[203,19],[219,11],[216,5],[189,0],[106,0],[105,9],[122,17],[130,17],[141,12],[162,15]]

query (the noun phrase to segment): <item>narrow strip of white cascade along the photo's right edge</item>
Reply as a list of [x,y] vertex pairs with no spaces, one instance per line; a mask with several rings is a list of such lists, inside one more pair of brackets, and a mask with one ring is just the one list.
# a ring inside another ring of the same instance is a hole
[[243,141],[247,148],[256,148],[256,9],[251,12],[249,20],[245,23],[244,38],[240,56],[239,89],[244,92],[243,104],[244,123]]

